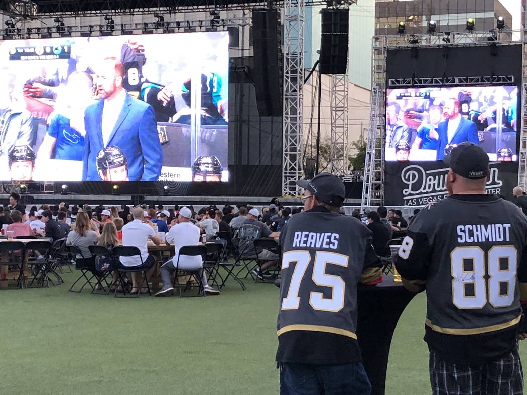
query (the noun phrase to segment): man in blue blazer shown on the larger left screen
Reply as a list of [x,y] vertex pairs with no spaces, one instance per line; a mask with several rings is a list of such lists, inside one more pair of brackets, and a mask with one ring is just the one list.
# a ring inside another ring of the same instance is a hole
[[97,72],[99,102],[86,108],[86,142],[83,181],[102,181],[97,172],[97,154],[116,146],[128,163],[130,181],[157,181],[163,164],[153,108],[132,98],[123,88],[124,67],[116,57],[107,57]]

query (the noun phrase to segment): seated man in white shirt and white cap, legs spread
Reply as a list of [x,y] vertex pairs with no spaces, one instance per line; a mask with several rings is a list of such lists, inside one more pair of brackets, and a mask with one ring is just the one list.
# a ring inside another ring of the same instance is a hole
[[174,291],[174,288],[172,287],[172,274],[175,272],[176,265],[180,270],[196,271],[201,269],[200,274],[201,281],[203,282],[203,292],[207,292],[207,294],[210,295],[218,295],[220,293],[220,291],[217,289],[210,287],[209,283],[207,282],[207,274],[203,270],[203,261],[200,255],[179,256],[179,249],[183,245],[199,244],[200,229],[198,226],[189,221],[191,217],[192,211],[190,211],[188,207],[183,207],[181,210],[179,210],[179,223],[174,224],[170,228],[170,231],[165,235],[165,240],[167,243],[174,243],[175,255],[161,266],[161,279],[163,280],[163,288],[154,296],[159,297],[172,294]]

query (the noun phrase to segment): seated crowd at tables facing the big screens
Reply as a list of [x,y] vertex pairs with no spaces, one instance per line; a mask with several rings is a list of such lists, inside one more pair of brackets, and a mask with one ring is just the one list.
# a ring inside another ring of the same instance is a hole
[[[183,245],[221,243],[230,254],[237,253],[244,259],[256,261],[253,276],[273,279],[276,273],[270,269],[279,265],[278,251],[257,249],[253,240],[278,239],[280,230],[291,215],[304,210],[301,206],[283,206],[276,198],[261,213],[248,204],[226,204],[221,210],[211,204],[195,211],[193,205],[175,205],[174,208],[153,204],[141,204],[134,208],[122,205],[119,210],[116,206],[106,207],[102,204],[92,208],[87,204],[70,206],[62,202],[56,205],[43,204],[40,208],[34,205],[27,210],[18,202],[19,199],[13,193],[9,197],[9,205],[0,209],[0,225],[7,225],[5,230],[13,231],[15,237],[43,236],[51,241],[66,238],[67,245],[80,250],[75,257],[77,264],[89,268],[97,279],[103,276],[102,270],[109,263],[96,261],[90,252],[90,245],[103,245],[110,249],[116,245],[136,246],[141,256],[119,258],[123,268],[145,269],[146,279],[140,271],[131,273],[132,293],[148,292],[146,282],[150,280],[154,266],[154,258],[148,253],[148,244],[160,244],[163,240],[173,244],[173,257],[161,265],[163,287],[156,296],[173,293],[172,278],[176,266],[178,270],[199,272],[204,292],[219,294],[219,290],[208,284],[200,256],[179,256],[179,249]],[[408,226],[400,210],[387,210],[384,206],[379,206],[376,212],[364,210],[360,213],[355,210],[352,216],[363,221],[372,231],[372,244],[379,256],[389,255],[387,243],[393,233]],[[116,278],[114,274],[114,283]],[[100,284],[97,286],[100,287]]]

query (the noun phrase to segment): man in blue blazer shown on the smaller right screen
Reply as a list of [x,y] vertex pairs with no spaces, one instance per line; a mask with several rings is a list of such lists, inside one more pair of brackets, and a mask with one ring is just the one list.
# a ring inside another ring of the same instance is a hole
[[460,102],[456,98],[449,98],[443,107],[445,121],[437,126],[437,160],[442,161],[445,149],[452,148],[464,142],[480,145],[477,137],[476,124],[463,118],[460,114]]

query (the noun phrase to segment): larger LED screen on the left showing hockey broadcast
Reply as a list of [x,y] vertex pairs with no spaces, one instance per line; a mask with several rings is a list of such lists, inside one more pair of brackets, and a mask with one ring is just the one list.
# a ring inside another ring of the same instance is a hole
[[227,32],[0,42],[0,180],[229,179]]

